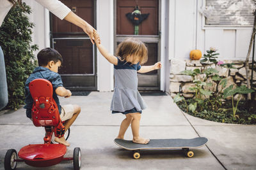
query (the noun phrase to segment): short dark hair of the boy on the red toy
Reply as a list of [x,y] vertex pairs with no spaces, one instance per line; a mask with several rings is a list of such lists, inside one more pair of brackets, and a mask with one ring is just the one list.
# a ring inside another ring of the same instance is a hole
[[59,52],[52,48],[44,48],[37,54],[37,59],[38,59],[38,66],[47,66],[48,62],[51,60],[54,61],[54,63],[62,62],[62,57]]

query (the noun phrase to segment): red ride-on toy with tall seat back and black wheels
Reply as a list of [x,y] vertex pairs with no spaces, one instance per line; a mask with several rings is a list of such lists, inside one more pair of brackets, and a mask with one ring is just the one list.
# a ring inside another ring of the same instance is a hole
[[80,148],[74,149],[73,157],[64,157],[67,146],[51,143],[53,132],[55,136],[63,136],[65,131],[58,106],[52,98],[51,82],[42,78],[35,79],[29,83],[29,90],[34,101],[32,108],[33,124],[36,127],[45,127],[44,144],[24,146],[18,153],[19,157],[16,150],[8,150],[4,158],[4,168],[15,169],[17,162],[25,162],[34,167],[47,167],[73,160],[74,169],[80,169]]

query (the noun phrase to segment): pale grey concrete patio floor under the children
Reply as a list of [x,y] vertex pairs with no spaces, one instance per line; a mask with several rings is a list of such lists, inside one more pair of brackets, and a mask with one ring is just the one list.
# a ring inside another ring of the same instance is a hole
[[[148,108],[143,111],[140,134],[150,139],[208,138],[207,146],[193,150],[193,158],[180,150],[141,151],[141,158],[132,159],[113,140],[118,134],[122,114],[109,111],[113,92],[92,92],[89,96],[61,98],[60,103],[79,104],[81,114],[72,125],[71,146],[66,157],[72,157],[75,147],[82,152],[81,169],[256,169],[256,125],[221,124],[183,113],[170,96],[143,96]],[[24,109],[0,115],[0,169],[10,148],[19,152],[28,144],[43,143],[44,129],[35,127],[26,118]],[[131,128],[125,139],[132,139]],[[72,164],[58,164],[47,169],[73,169]],[[17,169],[35,169],[19,162]],[[36,168],[45,169],[45,168]]]

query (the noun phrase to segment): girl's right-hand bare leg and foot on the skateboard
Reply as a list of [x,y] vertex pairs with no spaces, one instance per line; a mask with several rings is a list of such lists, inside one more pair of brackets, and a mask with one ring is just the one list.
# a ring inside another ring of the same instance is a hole
[[147,144],[150,141],[150,139],[145,139],[140,137],[141,113],[128,113],[128,114],[131,115],[131,117],[133,118],[131,123],[132,135],[133,135],[132,141],[134,143]]

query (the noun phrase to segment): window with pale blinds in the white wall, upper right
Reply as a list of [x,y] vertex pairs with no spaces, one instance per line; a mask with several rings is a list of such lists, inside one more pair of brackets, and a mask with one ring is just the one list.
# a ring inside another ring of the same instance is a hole
[[250,26],[256,0],[205,0],[205,25]]

